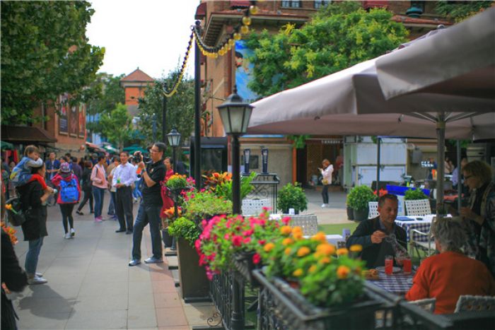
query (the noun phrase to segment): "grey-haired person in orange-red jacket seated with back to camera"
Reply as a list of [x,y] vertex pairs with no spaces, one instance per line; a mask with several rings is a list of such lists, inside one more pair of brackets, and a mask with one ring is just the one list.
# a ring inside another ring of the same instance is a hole
[[460,295],[495,295],[487,266],[462,253],[465,230],[456,218],[440,218],[432,225],[440,254],[426,258],[406,294],[407,300],[436,298],[435,314],[453,313]]

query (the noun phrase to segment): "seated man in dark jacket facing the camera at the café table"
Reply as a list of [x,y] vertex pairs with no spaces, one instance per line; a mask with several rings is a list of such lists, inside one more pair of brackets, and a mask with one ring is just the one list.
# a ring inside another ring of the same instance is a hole
[[397,217],[397,196],[385,194],[378,199],[378,213],[380,216],[362,221],[358,228],[347,240],[347,247],[360,244],[363,247],[361,259],[366,261],[366,267],[375,268],[385,265],[385,256],[395,256],[396,247],[389,240],[388,235],[394,234],[397,242],[407,249],[406,232],[395,225]]

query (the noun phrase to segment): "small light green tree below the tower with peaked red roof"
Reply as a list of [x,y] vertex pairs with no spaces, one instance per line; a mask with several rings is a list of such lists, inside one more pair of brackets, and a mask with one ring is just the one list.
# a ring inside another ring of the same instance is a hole
[[101,133],[110,142],[115,143],[120,151],[124,148],[124,143],[130,141],[134,136],[132,129],[132,117],[127,112],[127,106],[122,103],[111,112],[104,112],[100,115]]

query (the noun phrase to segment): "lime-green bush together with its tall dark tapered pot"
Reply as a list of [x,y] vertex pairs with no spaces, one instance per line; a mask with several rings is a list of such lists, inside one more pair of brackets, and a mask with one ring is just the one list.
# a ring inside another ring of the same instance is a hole
[[204,267],[199,266],[194,242],[199,237],[199,228],[192,220],[180,217],[168,225],[168,232],[177,240],[177,259],[182,298],[198,300],[208,295],[209,283]]

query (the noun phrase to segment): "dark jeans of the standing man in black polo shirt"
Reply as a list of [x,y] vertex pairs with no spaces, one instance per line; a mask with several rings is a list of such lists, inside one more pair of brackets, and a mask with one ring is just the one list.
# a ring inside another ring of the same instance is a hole
[[161,235],[160,235],[160,211],[161,206],[145,205],[142,201],[139,204],[136,221],[134,222],[134,232],[132,234],[132,259],[141,259],[141,238],[143,230],[149,223],[151,232],[151,249],[153,257],[162,259]]

